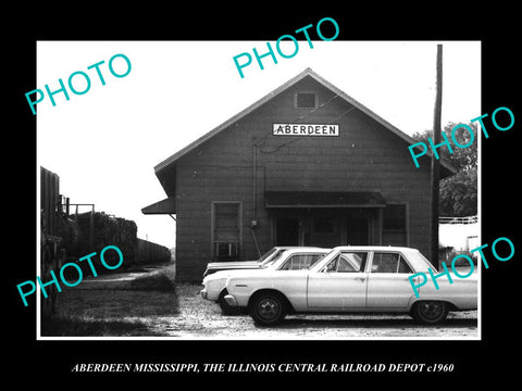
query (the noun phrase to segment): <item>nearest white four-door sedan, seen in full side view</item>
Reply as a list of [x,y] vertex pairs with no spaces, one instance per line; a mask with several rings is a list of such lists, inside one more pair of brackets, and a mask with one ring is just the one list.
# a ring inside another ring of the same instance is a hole
[[[415,295],[408,277],[435,267],[410,248],[338,247],[310,269],[243,270],[229,275],[226,303],[248,308],[260,326],[279,324],[287,313],[407,313],[424,324],[443,321],[448,311],[477,307],[476,274],[438,278]],[[415,277],[417,278],[417,277]]]

